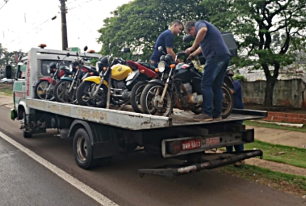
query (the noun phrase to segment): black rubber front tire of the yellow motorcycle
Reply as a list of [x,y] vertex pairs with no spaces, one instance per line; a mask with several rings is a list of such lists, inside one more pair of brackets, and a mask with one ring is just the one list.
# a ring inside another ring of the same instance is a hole
[[90,87],[91,84],[95,84],[90,81],[83,81],[76,90],[76,100],[77,102],[82,106],[90,106],[90,107],[106,107],[106,100],[107,100],[107,87],[105,84],[101,85],[101,88],[103,88],[104,98],[99,102],[99,104],[94,103],[92,99],[89,99],[88,101],[83,100],[84,90],[86,88]]

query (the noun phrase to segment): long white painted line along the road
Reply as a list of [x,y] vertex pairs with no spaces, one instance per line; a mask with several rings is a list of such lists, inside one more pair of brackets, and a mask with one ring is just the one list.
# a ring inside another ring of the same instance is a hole
[[35,152],[32,152],[28,148],[22,146],[12,138],[8,137],[7,135],[0,132],[0,137],[2,137],[4,140],[12,144],[13,146],[20,149],[22,152],[30,156],[32,159],[36,160],[38,163],[43,165],[44,167],[47,167],[50,171],[52,171],[54,174],[58,175],[60,178],[68,182],[69,184],[73,185],[77,189],[79,189],[81,192],[85,193],[92,199],[96,200],[99,204],[105,205],[105,206],[119,206],[118,204],[114,203],[112,200],[108,199],[101,193],[98,193],[94,189],[90,188],[88,185],[84,184],[83,182],[77,180],[70,174],[66,173],[64,170],[61,170],[60,168],[56,167],[54,164],[48,162],[46,159],[43,159],[39,155],[37,155]]

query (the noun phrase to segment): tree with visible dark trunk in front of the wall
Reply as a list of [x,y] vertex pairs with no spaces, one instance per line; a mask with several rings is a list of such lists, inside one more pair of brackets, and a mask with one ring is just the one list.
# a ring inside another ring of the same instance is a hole
[[213,24],[238,39],[238,62],[263,68],[264,105],[272,106],[280,67],[294,61],[295,51],[305,49],[306,0],[203,0],[202,5]]

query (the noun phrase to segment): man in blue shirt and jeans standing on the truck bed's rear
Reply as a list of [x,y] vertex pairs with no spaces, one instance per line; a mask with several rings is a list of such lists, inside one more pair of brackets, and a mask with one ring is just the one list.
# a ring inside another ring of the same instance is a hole
[[222,82],[231,54],[223,40],[221,32],[211,23],[203,20],[188,21],[185,32],[196,36],[192,45],[186,49],[190,54],[200,44],[200,47],[189,55],[192,58],[200,53],[206,59],[201,82],[203,94],[203,113],[196,115],[196,121],[211,121],[221,119],[222,113]]

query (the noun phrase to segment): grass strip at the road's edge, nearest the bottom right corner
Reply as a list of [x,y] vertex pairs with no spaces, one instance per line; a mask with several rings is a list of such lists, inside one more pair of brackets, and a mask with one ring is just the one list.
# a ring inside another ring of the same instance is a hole
[[306,177],[303,176],[285,174],[251,165],[244,165],[239,168],[230,165],[219,167],[217,170],[247,180],[253,180],[300,197],[306,195]]

